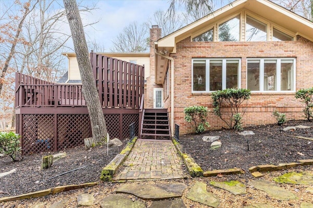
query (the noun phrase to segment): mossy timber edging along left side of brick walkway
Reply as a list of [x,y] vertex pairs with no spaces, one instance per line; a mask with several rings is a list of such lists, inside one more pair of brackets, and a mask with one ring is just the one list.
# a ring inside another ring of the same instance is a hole
[[112,181],[113,175],[133,149],[136,140],[137,137],[134,137],[131,142],[128,142],[125,148],[119,154],[117,154],[106,167],[102,169],[100,180]]

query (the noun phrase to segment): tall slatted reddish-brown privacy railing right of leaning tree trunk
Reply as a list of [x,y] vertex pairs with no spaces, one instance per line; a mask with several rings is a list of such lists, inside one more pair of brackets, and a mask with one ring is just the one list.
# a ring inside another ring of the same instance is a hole
[[90,61],[102,106],[140,108],[144,66],[95,53]]

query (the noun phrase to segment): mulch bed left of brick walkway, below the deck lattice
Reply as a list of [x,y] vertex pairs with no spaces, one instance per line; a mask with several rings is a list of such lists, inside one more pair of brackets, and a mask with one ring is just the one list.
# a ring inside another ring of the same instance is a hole
[[[95,147],[86,151],[84,146],[79,146],[65,150],[67,156],[56,161],[51,168],[46,170],[41,170],[40,166],[42,156],[51,154],[48,152],[24,155],[23,159],[18,162],[12,162],[9,157],[0,157],[0,172],[17,169],[15,173],[0,178],[0,197],[99,181],[102,168],[125,147],[126,141],[122,142],[123,145],[120,147],[109,148],[109,156],[107,156],[106,147]],[[57,152],[52,154],[55,153]],[[51,177],[84,166],[86,167],[49,180]],[[107,185],[110,186],[110,184]]]

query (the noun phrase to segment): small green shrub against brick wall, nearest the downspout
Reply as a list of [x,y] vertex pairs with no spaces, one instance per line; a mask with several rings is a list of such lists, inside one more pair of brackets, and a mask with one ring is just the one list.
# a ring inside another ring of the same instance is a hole
[[204,106],[190,106],[184,109],[185,120],[191,124],[197,133],[205,131],[206,127],[210,127],[206,121],[208,109]]

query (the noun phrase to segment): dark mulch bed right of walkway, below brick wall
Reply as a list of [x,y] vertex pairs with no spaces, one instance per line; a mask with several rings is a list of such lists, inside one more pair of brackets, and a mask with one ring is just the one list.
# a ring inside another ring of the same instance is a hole
[[[202,170],[242,168],[263,164],[297,162],[313,159],[313,141],[294,136],[313,137],[313,128],[283,132],[287,126],[313,126],[313,122],[291,120],[285,125],[277,124],[246,127],[255,135],[242,136],[231,130],[209,131],[202,134],[180,136],[183,151],[189,153]],[[202,141],[203,136],[220,136],[222,147],[210,149],[210,142]]]

